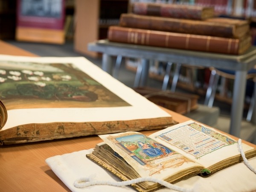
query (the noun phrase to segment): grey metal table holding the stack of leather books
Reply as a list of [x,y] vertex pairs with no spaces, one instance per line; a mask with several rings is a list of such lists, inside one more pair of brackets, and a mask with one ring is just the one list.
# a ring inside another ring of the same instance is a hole
[[[110,74],[112,74],[113,70],[113,56],[122,55],[128,58],[140,58],[142,61],[142,84],[145,84],[148,79],[150,60],[236,70],[229,133],[239,137],[244,108],[246,74],[248,70],[256,65],[256,47],[251,47],[242,55],[226,55],[183,49],[122,44],[109,42],[108,40],[95,41],[89,43],[87,47],[90,51],[102,52],[102,69]],[[253,111],[256,111],[256,106],[254,106]],[[256,119],[255,113],[252,119]]]

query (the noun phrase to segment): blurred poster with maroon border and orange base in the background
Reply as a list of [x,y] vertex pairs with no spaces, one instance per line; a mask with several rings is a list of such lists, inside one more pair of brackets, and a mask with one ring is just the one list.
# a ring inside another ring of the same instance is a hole
[[17,0],[17,41],[64,44],[64,0]]

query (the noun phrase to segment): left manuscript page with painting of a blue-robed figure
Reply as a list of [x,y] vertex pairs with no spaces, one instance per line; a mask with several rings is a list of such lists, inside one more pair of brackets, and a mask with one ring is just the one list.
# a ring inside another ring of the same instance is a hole
[[128,131],[99,137],[123,157],[141,177],[153,176],[164,179],[177,173],[183,175],[204,169],[191,159],[138,132]]

